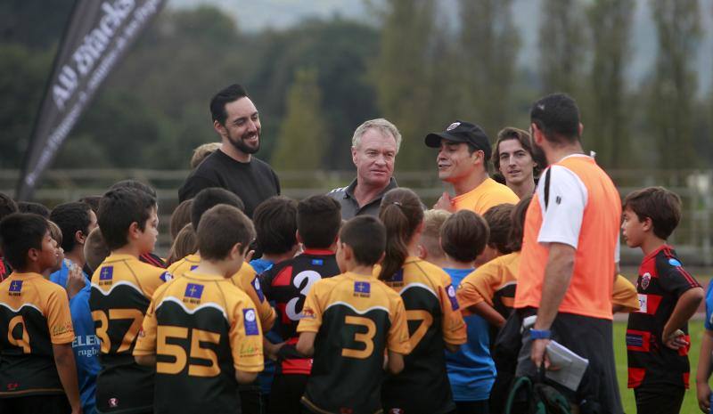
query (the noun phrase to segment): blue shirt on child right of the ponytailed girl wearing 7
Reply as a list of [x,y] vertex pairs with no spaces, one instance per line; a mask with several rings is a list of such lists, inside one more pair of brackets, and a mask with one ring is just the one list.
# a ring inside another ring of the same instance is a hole
[[[451,277],[453,286],[461,284],[474,269],[443,269]],[[496,364],[490,356],[488,322],[478,315],[463,317],[468,342],[456,353],[446,351],[448,380],[456,402],[488,400],[496,380]]]

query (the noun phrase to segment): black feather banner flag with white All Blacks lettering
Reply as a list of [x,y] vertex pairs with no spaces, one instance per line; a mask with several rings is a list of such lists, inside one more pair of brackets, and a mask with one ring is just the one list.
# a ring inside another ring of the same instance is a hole
[[77,0],[25,153],[17,199],[32,197],[94,93],[165,2]]

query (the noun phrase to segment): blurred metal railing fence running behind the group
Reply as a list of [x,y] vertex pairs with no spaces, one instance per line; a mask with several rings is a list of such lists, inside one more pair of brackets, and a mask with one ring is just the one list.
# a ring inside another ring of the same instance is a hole
[[[100,195],[111,183],[133,178],[151,184],[159,194],[160,253],[168,251],[170,243],[168,223],[178,204],[177,189],[189,174],[188,170],[151,169],[55,169],[45,175],[35,199],[53,207],[62,202],[87,195]],[[354,171],[278,171],[283,194],[302,199],[324,193],[335,187],[348,185]],[[661,185],[676,191],[684,202],[683,219],[669,240],[676,247],[684,263],[705,268],[713,267],[711,224],[713,223],[713,170],[627,170],[609,171],[622,197],[635,189]],[[0,191],[12,196],[17,183],[17,170],[0,170]],[[427,206],[432,205],[446,187],[433,171],[398,172],[400,186],[412,188]],[[641,254],[638,249],[622,247],[622,264],[635,266]]]

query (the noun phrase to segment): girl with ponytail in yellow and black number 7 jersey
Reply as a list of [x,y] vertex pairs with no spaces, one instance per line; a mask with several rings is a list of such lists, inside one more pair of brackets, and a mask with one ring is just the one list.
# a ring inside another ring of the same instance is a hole
[[466,342],[465,323],[448,274],[416,256],[423,229],[421,200],[405,188],[390,190],[381,199],[379,218],[387,234],[379,279],[404,300],[412,348],[406,369],[384,382],[383,408],[387,412],[455,410],[443,350],[455,352]]

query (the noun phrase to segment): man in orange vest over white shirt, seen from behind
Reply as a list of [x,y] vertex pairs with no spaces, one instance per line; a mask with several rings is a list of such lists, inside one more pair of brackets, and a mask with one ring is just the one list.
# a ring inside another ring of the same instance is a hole
[[578,389],[563,394],[581,412],[622,413],[612,348],[611,291],[619,262],[621,201],[610,177],[582,150],[577,103],[555,93],[530,110],[530,134],[548,164],[525,221],[514,307],[524,320],[517,375],[551,367],[556,340],[589,360]]

